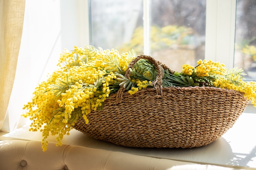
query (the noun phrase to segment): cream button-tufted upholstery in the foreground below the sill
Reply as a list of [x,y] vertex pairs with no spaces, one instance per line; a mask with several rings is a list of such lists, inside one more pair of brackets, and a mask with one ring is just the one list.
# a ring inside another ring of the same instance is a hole
[[0,170],[230,170],[124,152],[49,143],[43,152],[40,141],[0,141]]

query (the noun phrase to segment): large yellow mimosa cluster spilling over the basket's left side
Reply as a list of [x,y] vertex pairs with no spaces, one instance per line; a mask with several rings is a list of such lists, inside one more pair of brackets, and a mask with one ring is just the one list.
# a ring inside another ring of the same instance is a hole
[[49,133],[57,135],[57,146],[62,145],[63,136],[69,135],[78,119],[83,117],[88,123],[87,115],[102,106],[111,94],[110,87],[120,83],[115,72],[126,71],[133,58],[114,49],[93,51],[75,46],[74,51],[63,51],[58,63],[61,68],[36,87],[32,101],[23,108],[27,110],[23,116],[32,120],[29,130],[43,132],[43,151]]

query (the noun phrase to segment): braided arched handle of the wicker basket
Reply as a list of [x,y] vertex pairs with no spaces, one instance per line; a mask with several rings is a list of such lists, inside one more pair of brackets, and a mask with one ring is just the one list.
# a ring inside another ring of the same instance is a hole
[[[140,60],[140,59],[146,59],[148,60],[149,62],[151,62],[155,68],[156,68],[156,71],[157,71],[157,78],[155,79],[154,81],[154,84],[155,84],[155,89],[156,89],[156,93],[157,95],[160,95],[161,97],[163,97],[163,91],[162,91],[162,68],[164,70],[168,70],[169,73],[173,74],[174,71],[172,71],[170,68],[168,68],[168,66],[162,64],[161,62],[155,60],[153,57],[150,57],[148,55],[139,55],[137,56],[135,59],[133,59],[129,66],[127,67],[126,69],[126,73],[125,73],[125,77],[129,78],[130,77],[130,68],[132,69],[133,66]],[[116,97],[116,104],[119,104],[122,102],[122,97],[123,97],[123,93],[126,89],[124,88],[124,86],[121,86],[119,88],[119,90],[117,91],[117,97]]]

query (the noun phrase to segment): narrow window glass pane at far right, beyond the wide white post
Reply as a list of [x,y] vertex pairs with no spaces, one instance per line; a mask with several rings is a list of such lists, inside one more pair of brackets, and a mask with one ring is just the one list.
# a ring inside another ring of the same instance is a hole
[[243,68],[248,81],[256,80],[256,0],[237,0],[234,66]]

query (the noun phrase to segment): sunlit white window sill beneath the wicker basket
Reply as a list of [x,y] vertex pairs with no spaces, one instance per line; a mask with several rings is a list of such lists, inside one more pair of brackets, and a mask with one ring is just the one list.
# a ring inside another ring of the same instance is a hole
[[[135,155],[173,159],[193,163],[225,166],[230,168],[256,169],[256,139],[252,130],[256,128],[256,114],[243,113],[220,139],[200,148],[128,148],[97,140],[77,130],[71,130],[63,138],[63,144],[99,148]],[[40,132],[29,132],[29,126],[23,126],[14,132],[0,136],[0,140],[20,139],[41,141]],[[49,142],[56,142],[49,136]]]

